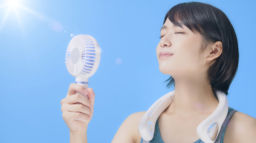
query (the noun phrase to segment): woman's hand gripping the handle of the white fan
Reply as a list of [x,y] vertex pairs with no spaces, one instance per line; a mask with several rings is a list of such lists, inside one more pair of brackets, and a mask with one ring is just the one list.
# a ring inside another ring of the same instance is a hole
[[[87,94],[88,99],[83,95],[75,94],[75,91],[85,95]],[[75,83],[70,84],[66,98],[60,102],[62,118],[66,122],[70,132],[81,133],[87,130],[88,123],[93,117],[94,99],[95,93],[92,88],[86,90],[81,85]],[[76,104],[77,102],[80,104]],[[85,121],[76,121],[75,119],[84,119]]]

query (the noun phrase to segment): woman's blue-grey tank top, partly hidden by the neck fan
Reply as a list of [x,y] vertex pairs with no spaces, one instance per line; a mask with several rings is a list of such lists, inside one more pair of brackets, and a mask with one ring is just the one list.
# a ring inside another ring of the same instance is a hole
[[[228,109],[228,113],[227,113],[227,117],[224,120],[220,132],[218,134],[218,137],[216,138],[214,143],[223,143],[224,140],[224,134],[226,131],[226,127],[227,127],[227,123],[229,121],[229,119],[232,117],[232,115],[236,112],[237,110],[234,110],[233,108],[229,108]],[[159,130],[159,126],[158,126],[158,119],[156,122],[156,126],[155,126],[155,134],[153,136],[153,139],[151,141],[144,141],[143,138],[140,139],[140,143],[164,143],[160,134],[160,130]],[[198,139],[197,141],[195,141],[194,143],[204,143],[201,139]]]

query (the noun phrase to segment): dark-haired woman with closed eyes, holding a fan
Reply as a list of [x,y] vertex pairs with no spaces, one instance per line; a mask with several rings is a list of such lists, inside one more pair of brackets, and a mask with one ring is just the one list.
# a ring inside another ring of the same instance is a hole
[[[198,2],[176,5],[165,16],[156,52],[160,71],[171,75],[167,86],[175,85],[175,99],[158,118],[151,142],[202,142],[196,128],[218,106],[213,91],[228,94],[238,68],[238,43],[233,26],[221,10],[211,5]],[[87,94],[88,99],[75,91]],[[94,97],[92,88],[86,90],[71,84],[67,97],[61,101],[70,142],[87,142]],[[256,119],[235,111],[229,108],[226,118],[229,121],[224,122],[227,125],[218,135],[218,142],[255,142]],[[143,142],[138,124],[144,113],[134,113],[125,119],[112,142]]]

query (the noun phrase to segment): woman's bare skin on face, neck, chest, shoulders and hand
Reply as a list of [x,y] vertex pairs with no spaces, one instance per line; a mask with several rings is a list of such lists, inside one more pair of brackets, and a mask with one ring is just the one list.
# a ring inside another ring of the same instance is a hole
[[[222,43],[217,41],[207,45],[206,50],[201,52],[203,38],[200,34],[193,33],[186,26],[175,26],[169,19],[163,26],[156,53],[160,71],[175,79],[175,99],[159,117],[160,133],[165,143],[192,143],[199,139],[196,133],[197,126],[219,104],[209,85],[206,71],[222,54]],[[160,52],[169,52],[173,55],[160,57]],[[86,130],[90,119],[81,121],[81,128],[78,128],[80,121],[73,121],[80,114],[92,116],[93,113],[95,94],[89,88],[88,99],[79,98],[75,91],[83,92],[83,90],[82,86],[72,84],[67,97],[61,103],[62,107],[64,106],[63,115],[65,113],[63,119],[70,128],[71,142],[87,142]],[[75,106],[76,102],[82,102],[84,107]],[[134,113],[125,119],[112,143],[139,143],[141,136],[138,132],[138,125],[144,113]],[[84,118],[86,119],[87,116],[84,115]],[[82,118],[82,115],[79,117]],[[244,113],[235,112],[227,124],[224,143],[255,142],[255,135],[256,119]]]

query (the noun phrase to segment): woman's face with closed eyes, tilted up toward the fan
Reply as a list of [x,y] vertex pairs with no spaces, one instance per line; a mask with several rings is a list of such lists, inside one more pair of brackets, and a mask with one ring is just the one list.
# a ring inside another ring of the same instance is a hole
[[172,77],[205,73],[202,70],[205,67],[205,54],[200,55],[203,43],[201,34],[193,33],[184,25],[174,25],[167,18],[160,36],[157,59],[162,73]]

